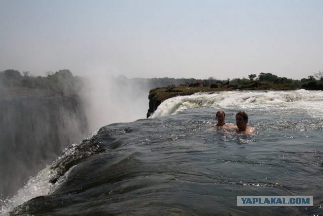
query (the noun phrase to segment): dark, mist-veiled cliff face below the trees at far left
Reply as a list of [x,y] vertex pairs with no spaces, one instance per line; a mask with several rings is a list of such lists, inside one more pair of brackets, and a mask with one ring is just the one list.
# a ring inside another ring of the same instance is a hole
[[12,196],[67,145],[88,136],[87,125],[76,95],[41,91],[2,95],[0,198]]

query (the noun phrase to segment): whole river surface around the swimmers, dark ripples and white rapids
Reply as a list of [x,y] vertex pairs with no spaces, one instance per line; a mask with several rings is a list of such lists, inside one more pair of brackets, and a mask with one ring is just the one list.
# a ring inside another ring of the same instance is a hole
[[[107,125],[2,200],[3,215],[323,215],[323,93],[199,93]],[[251,135],[215,130],[245,111]],[[237,206],[313,196],[313,206]]]

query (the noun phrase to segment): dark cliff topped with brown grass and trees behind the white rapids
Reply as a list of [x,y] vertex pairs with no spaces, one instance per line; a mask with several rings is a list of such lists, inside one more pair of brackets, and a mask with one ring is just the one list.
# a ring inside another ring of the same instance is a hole
[[191,95],[197,92],[239,91],[239,90],[323,90],[323,72],[315,73],[301,80],[278,77],[271,73],[250,74],[249,79],[207,80],[190,79],[190,83],[154,88],[149,92],[147,118],[164,100],[175,96]]

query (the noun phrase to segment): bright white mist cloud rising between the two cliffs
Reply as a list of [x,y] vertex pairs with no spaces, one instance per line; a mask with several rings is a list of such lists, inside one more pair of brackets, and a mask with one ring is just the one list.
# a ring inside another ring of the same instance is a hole
[[85,77],[80,97],[86,110],[90,130],[116,122],[130,122],[146,117],[149,86],[124,76],[91,72]]

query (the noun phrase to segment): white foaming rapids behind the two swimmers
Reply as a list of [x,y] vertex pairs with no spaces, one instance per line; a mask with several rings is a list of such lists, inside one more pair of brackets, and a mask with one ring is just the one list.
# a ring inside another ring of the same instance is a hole
[[214,93],[196,93],[189,96],[178,96],[165,100],[151,115],[151,118],[175,115],[183,110],[197,107],[214,107],[216,109],[249,110],[260,109],[274,111],[272,108],[304,109],[312,117],[323,117],[322,91],[226,91]]

